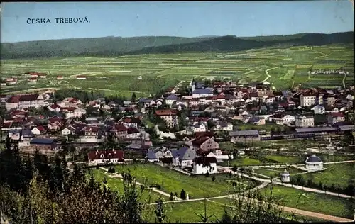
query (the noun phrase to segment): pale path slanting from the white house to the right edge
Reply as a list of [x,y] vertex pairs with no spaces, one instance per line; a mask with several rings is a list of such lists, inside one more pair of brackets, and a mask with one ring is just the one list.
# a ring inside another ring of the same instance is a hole
[[346,194],[338,194],[338,193],[329,192],[329,191],[322,191],[322,190],[318,190],[318,189],[312,189],[312,188],[308,188],[308,187],[304,187],[304,186],[298,186],[298,185],[293,185],[293,184],[285,184],[285,183],[281,183],[280,181],[274,181],[275,179],[270,180],[270,179],[261,179],[261,178],[258,178],[258,177],[251,177],[248,174],[243,174],[243,173],[240,173],[240,172],[234,172],[231,169],[226,168],[226,167],[222,167],[221,168],[221,167],[217,166],[217,169],[222,169],[224,172],[228,172],[228,173],[231,172],[232,174],[238,174],[239,177],[243,176],[243,177],[246,177],[246,178],[249,178],[249,179],[254,179],[256,181],[263,181],[263,182],[268,182],[268,183],[272,182],[273,184],[292,187],[294,189],[300,189],[300,190],[303,190],[303,191],[310,191],[310,192],[315,192],[315,193],[319,193],[319,194],[328,194],[328,195],[332,195],[332,196],[338,196],[338,197],[341,197],[341,198],[354,198],[354,196],[352,197],[352,196],[349,196],[349,195],[346,195]]

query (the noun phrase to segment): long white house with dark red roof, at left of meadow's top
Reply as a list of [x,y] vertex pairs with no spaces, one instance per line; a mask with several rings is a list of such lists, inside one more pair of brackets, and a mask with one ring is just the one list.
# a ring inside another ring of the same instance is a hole
[[87,153],[89,166],[97,164],[117,164],[124,162],[124,151],[122,150],[92,150]]

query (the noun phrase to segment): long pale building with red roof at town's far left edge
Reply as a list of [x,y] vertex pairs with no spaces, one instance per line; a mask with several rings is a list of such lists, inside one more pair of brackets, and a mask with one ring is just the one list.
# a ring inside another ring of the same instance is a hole
[[39,108],[45,105],[43,96],[40,94],[26,94],[12,96],[5,103],[6,110],[11,110],[14,108],[26,109],[26,108]]

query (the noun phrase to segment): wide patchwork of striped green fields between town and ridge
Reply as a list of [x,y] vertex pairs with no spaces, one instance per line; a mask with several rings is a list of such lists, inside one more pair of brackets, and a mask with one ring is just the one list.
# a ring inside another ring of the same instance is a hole
[[[121,57],[52,57],[33,60],[1,60],[1,78],[16,77],[17,84],[1,86],[1,94],[42,88],[102,91],[107,95],[138,96],[189,82],[194,77],[228,78],[246,82],[270,82],[275,89],[290,86],[342,86],[354,83],[354,47],[268,47],[231,53],[182,53],[127,55]],[[310,69],[349,71],[346,77],[310,75]],[[44,72],[46,79],[28,83],[25,72]],[[84,75],[86,80],[77,80]],[[57,80],[63,76],[63,80]],[[326,78],[326,79],[325,79]],[[154,83],[154,85],[153,85]]]

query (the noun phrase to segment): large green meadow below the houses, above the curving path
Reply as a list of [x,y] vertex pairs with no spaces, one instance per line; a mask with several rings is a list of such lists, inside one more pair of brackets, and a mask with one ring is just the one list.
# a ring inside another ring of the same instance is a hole
[[[147,180],[147,184],[159,184],[162,191],[177,193],[184,189],[190,198],[208,198],[213,196],[223,196],[230,194],[231,182],[226,174],[214,174],[215,181],[211,177],[193,176],[189,177],[186,174],[176,172],[166,167],[160,167],[154,164],[132,164],[132,165],[118,165],[116,169],[119,171],[130,170],[133,176],[136,176],[138,182],[142,183]],[[253,187],[253,183],[246,182]]]

